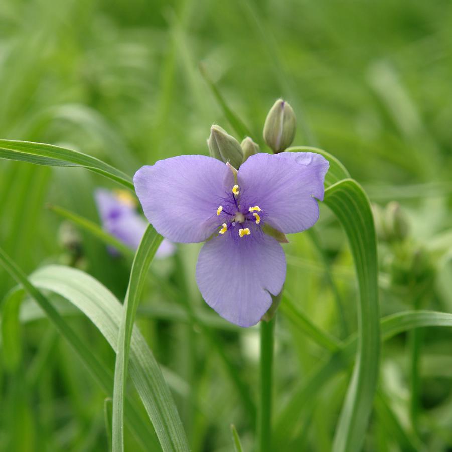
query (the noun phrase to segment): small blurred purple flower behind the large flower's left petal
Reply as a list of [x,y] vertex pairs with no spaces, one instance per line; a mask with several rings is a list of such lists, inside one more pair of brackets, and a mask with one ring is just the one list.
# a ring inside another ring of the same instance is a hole
[[[135,199],[126,191],[111,192],[101,188],[94,192],[94,199],[103,228],[128,247],[137,249],[147,222],[136,212]],[[112,254],[119,254],[113,247],[109,247],[109,250]],[[156,257],[164,258],[172,255],[174,251],[173,243],[164,240],[156,252]]]

